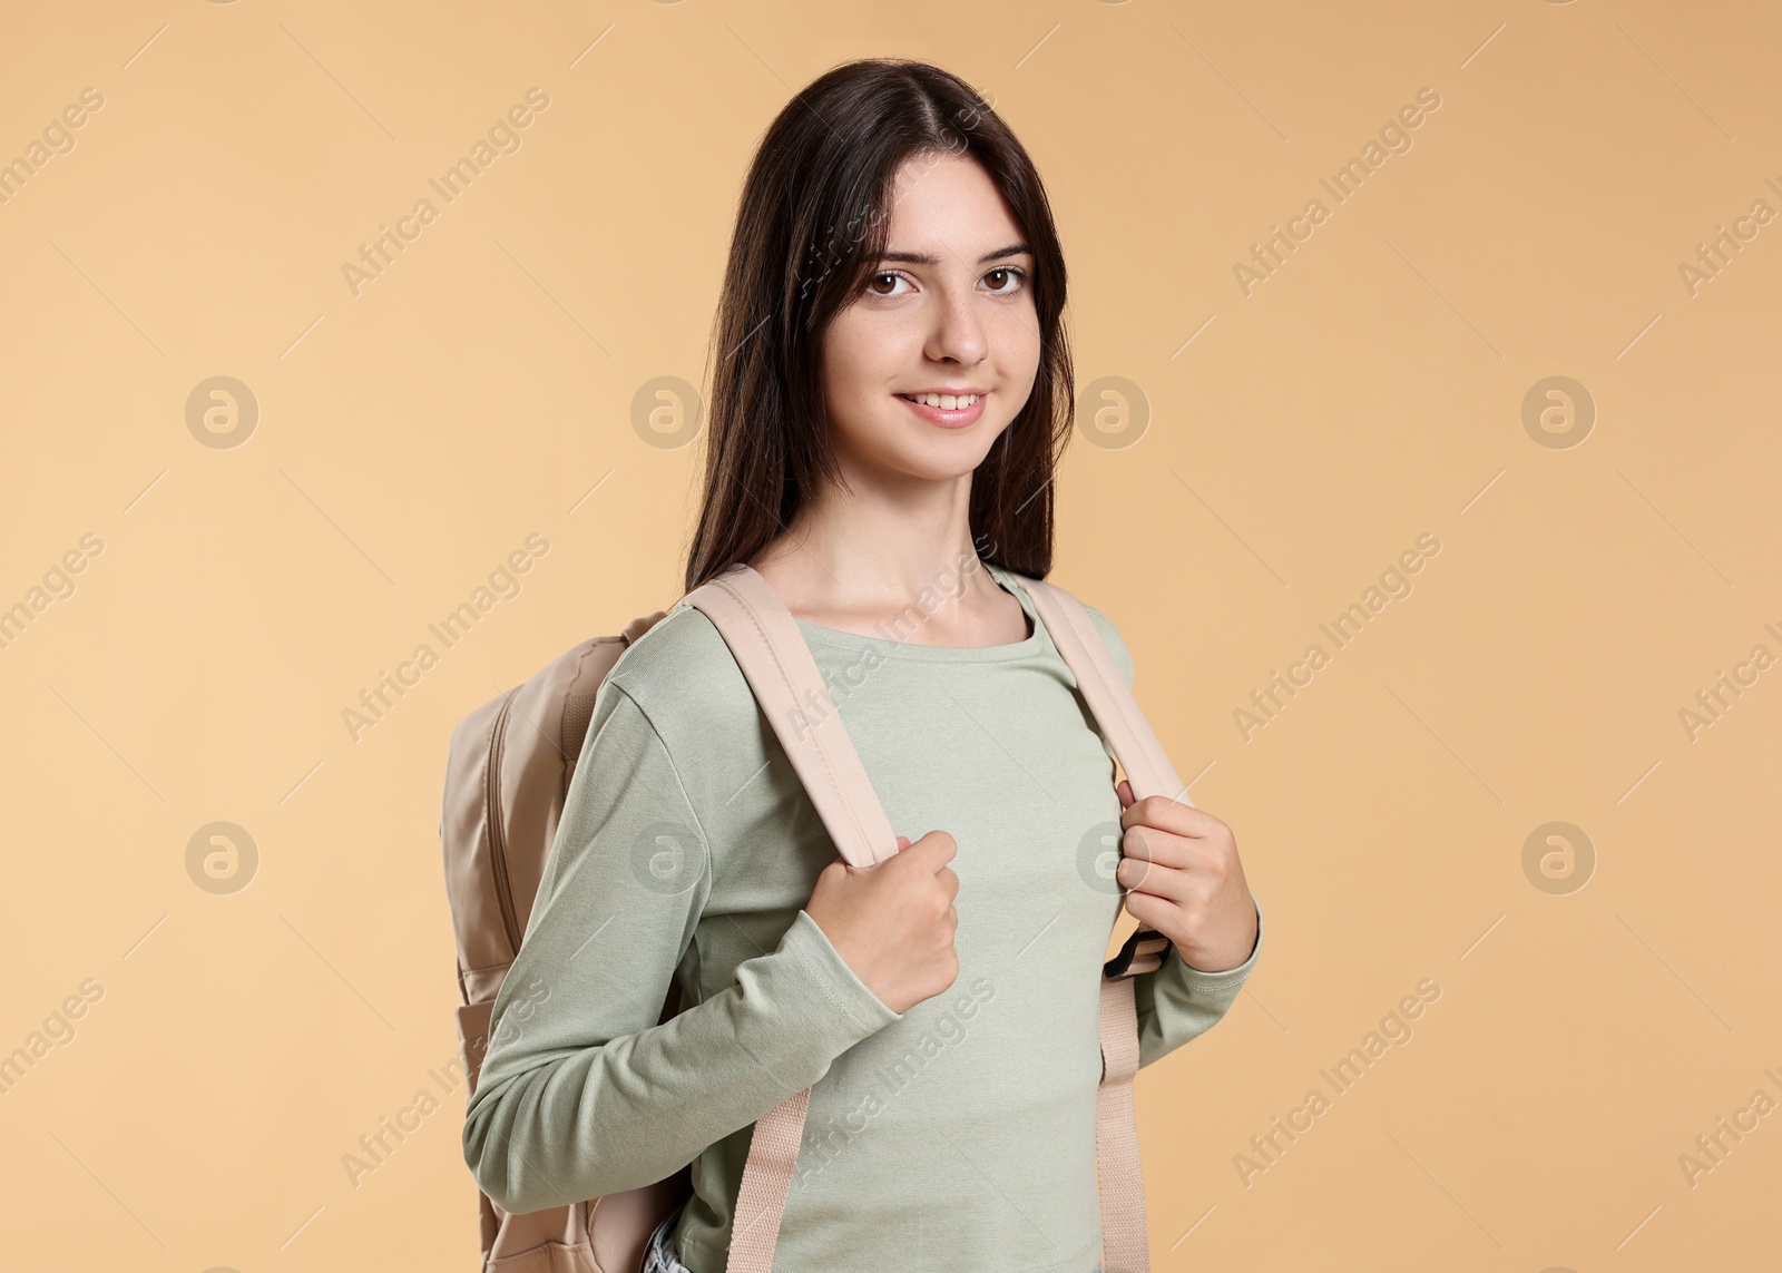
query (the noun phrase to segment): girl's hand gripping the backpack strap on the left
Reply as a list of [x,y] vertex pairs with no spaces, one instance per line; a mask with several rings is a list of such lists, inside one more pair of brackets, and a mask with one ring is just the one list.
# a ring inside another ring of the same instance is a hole
[[816,877],[805,911],[854,975],[893,1013],[907,1013],[959,979],[953,929],[959,875],[946,863],[959,845],[944,831],[873,866],[838,858]]

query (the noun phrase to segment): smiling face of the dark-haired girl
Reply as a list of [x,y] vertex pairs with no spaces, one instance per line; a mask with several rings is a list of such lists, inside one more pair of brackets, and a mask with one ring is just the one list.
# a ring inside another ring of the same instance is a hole
[[[850,481],[937,481],[984,462],[1039,369],[1032,269],[975,160],[920,155],[898,169],[886,255],[823,335],[823,407]],[[928,392],[962,398],[911,401]]]

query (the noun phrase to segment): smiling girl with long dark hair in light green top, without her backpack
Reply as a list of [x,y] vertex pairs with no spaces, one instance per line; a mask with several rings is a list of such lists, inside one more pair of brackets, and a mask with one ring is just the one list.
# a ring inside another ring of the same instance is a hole
[[[775,1269],[1099,1268],[1121,900],[1173,941],[1135,988],[1142,1064],[1224,1014],[1262,913],[1224,822],[1114,786],[1010,578],[1051,569],[1064,301],[1039,175],[953,75],[845,64],[773,121],[723,280],[686,587],[736,562],[773,587],[902,852],[839,861],[711,620],[650,628],[601,686],[467,1111],[497,1205],[691,1162],[647,1268],[722,1273],[754,1121],[813,1088]],[[684,1011],[658,1023],[670,979]],[[547,990],[524,1020],[520,986]]]

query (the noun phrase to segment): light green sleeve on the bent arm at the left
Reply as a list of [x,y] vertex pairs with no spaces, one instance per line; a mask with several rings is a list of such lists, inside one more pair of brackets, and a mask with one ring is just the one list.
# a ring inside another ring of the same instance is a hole
[[658,1023],[709,888],[675,763],[609,678],[465,1109],[465,1162],[503,1211],[661,1180],[900,1020],[800,909],[773,952]]

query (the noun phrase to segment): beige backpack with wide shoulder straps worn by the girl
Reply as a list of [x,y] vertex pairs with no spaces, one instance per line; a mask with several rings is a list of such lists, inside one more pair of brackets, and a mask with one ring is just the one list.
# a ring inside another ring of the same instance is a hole
[[[1190,804],[1082,603],[1057,585],[1021,574],[1012,578],[1034,599],[1053,645],[1132,781],[1133,795],[1160,793]],[[683,604],[704,612],[722,633],[839,854],[855,866],[868,866],[896,852],[896,834],[843,729],[811,649],[772,585],[752,567],[736,563],[688,592],[674,608]],[[458,938],[458,991],[463,998],[458,1043],[469,1091],[476,1091],[488,1047],[495,991],[526,934],[568,781],[593,719],[595,692],[624,649],[666,613],[658,610],[633,619],[618,636],[595,636],[576,645],[453,729],[440,845]],[[1130,979],[1160,966],[1167,950],[1167,938],[1140,927],[1103,966],[1096,1164],[1105,1273],[1149,1269],[1132,1100],[1139,1025]],[[663,1022],[679,1011],[675,1000],[677,991],[670,990]],[[809,1089],[800,1091],[756,1123],[736,1200],[729,1273],[770,1273],[809,1096]],[[479,1191],[481,1269],[636,1273],[650,1234],[690,1191],[688,1168],[643,1189],[527,1214],[510,1214]]]

